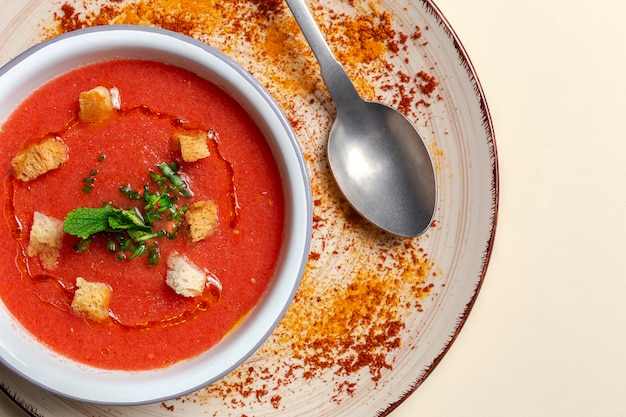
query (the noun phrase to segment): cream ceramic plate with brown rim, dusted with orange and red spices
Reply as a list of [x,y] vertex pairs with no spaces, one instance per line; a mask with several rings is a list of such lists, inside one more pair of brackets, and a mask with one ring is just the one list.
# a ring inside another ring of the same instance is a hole
[[356,216],[330,177],[325,143],[334,107],[281,2],[175,7],[174,1],[140,0],[104,9],[96,0],[75,3],[62,8],[54,1],[0,0],[0,63],[49,36],[58,22],[65,31],[86,19],[161,26],[222,50],[272,93],[299,136],[312,180],[312,250],[296,299],[268,341],[231,374],[197,392],[151,405],[107,407],[48,393],[3,367],[1,389],[43,417],[388,414],[442,360],[467,319],[497,217],[487,104],[437,7],[419,0],[313,4],[359,91],[401,108],[433,155],[435,220],[425,235],[401,239]]

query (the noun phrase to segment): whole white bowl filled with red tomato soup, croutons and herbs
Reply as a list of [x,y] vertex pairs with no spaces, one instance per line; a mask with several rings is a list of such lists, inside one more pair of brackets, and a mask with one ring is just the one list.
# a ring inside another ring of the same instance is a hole
[[78,30],[0,70],[0,359],[60,395],[142,404],[210,384],[297,290],[297,138],[233,60],[152,28]]

